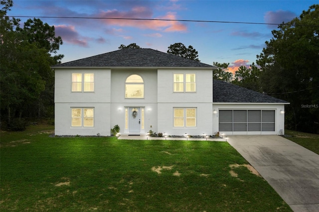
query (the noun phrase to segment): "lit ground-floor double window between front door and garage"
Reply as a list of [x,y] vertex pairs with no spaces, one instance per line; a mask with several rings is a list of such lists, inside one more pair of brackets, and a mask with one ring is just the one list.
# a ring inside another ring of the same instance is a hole
[[196,108],[195,107],[174,107],[174,127],[195,127]]

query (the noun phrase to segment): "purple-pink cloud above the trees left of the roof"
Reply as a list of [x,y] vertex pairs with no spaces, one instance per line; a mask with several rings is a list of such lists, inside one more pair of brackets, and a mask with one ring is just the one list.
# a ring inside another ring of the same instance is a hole
[[71,43],[83,47],[88,46],[88,38],[81,37],[71,25],[56,25],[54,26],[55,33],[62,37],[63,42]]

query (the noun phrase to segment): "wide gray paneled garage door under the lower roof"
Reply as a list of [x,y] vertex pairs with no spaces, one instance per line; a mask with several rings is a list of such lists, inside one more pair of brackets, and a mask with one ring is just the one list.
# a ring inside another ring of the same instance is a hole
[[275,110],[219,110],[221,132],[273,132]]

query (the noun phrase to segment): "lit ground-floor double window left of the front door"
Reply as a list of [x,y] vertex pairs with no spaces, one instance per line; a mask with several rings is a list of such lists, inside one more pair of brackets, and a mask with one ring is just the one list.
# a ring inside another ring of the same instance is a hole
[[72,107],[72,127],[93,127],[94,108],[93,107]]

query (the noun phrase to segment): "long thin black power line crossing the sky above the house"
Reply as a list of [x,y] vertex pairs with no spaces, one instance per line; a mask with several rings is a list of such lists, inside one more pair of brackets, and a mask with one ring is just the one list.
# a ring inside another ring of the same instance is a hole
[[181,21],[181,22],[206,22],[206,23],[239,23],[239,24],[260,24],[260,25],[292,25],[292,26],[319,26],[319,25],[298,25],[288,23],[260,23],[260,22],[241,22],[241,21],[217,21],[217,20],[187,20],[187,19],[159,19],[159,18],[115,18],[115,17],[67,17],[67,16],[24,16],[6,15],[7,17],[25,18],[74,18],[74,19],[112,19],[112,20],[157,20],[157,21]]

